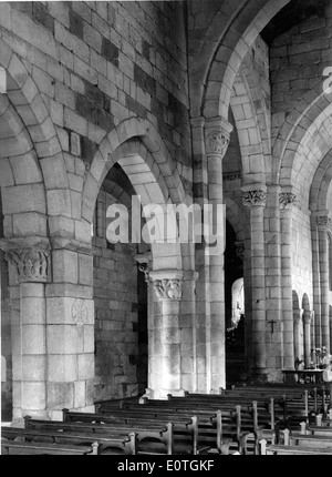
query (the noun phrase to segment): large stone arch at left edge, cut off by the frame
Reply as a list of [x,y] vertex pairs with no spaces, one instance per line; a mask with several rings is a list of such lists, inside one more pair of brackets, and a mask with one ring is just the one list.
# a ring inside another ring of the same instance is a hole
[[[7,92],[0,95],[0,114],[14,131],[20,131],[20,141],[18,141],[20,145],[17,148],[23,148],[15,150],[13,141],[7,136],[2,138],[4,142],[1,149],[8,151],[7,158],[13,154],[14,158],[19,158],[17,164],[12,161],[12,169],[20,163],[20,170],[27,171],[29,183],[35,185],[34,189],[38,189],[37,184],[39,184],[40,192],[32,194],[31,203],[35,203],[38,196],[40,207],[49,215],[49,232],[51,235],[56,234],[59,232],[56,217],[60,215],[70,217],[72,214],[66,168],[58,132],[28,69],[10,45],[1,39],[0,65],[7,72]],[[9,168],[7,171],[10,174]],[[12,173],[12,177],[19,181],[14,185],[19,185],[22,181],[22,177],[18,177],[18,173]],[[17,192],[20,194],[22,191]],[[28,202],[24,194],[22,202]],[[41,205],[42,202],[44,202],[43,205]]]

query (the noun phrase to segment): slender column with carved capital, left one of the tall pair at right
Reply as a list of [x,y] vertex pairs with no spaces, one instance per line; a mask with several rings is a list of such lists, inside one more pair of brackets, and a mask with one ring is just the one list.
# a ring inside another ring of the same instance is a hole
[[266,283],[264,283],[264,221],[267,186],[252,184],[242,187],[242,202],[250,210],[251,235],[251,337],[253,347],[252,375],[263,378],[267,368],[266,353]]

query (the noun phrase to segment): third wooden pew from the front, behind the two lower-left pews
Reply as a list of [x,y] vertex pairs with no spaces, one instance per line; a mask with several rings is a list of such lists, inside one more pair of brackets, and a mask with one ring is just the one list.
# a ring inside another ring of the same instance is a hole
[[[144,448],[143,443],[153,440],[162,445],[160,453],[173,454],[173,425],[166,425],[152,422],[141,422],[138,425],[134,424],[118,424],[118,423],[93,423],[93,422],[62,422],[62,420],[41,420],[32,419],[30,416],[24,417],[25,428],[28,429],[44,429],[44,430],[62,430],[63,433],[93,433],[103,435],[121,435],[135,433],[137,436],[137,451],[139,454]],[[154,447],[153,445],[151,447]],[[159,451],[157,453],[159,454]]]

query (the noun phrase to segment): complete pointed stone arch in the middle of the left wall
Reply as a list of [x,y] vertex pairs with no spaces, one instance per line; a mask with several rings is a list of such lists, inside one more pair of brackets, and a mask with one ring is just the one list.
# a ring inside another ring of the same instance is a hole
[[[83,186],[82,220],[92,223],[94,204],[110,169],[118,163],[142,205],[179,204],[186,194],[167,148],[149,121],[129,118],[101,142]],[[181,244],[153,243],[154,270],[181,270]]]

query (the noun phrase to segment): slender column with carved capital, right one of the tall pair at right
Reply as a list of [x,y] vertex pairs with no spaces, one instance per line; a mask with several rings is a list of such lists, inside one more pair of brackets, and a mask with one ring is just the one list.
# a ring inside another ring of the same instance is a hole
[[281,293],[283,324],[283,368],[294,369],[294,329],[292,297],[291,226],[292,207],[297,196],[291,187],[283,187],[280,196],[281,221]]

